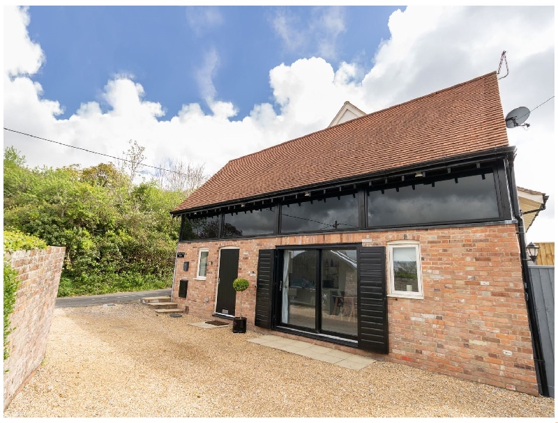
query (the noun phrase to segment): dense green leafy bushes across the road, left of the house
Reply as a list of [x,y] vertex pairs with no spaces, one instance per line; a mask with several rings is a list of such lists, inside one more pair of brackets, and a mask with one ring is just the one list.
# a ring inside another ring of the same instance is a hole
[[4,151],[4,227],[66,247],[60,296],[170,286],[180,221],[169,210],[183,195],[130,185],[111,163],[29,169]]

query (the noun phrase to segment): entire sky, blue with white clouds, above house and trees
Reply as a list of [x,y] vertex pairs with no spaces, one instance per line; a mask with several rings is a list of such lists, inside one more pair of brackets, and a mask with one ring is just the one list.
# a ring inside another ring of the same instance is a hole
[[[204,165],[497,70],[504,114],[555,91],[548,6],[16,7],[4,9],[4,126],[145,164]],[[519,186],[550,195],[527,240],[554,239],[554,100],[508,130]],[[474,116],[472,118],[474,128]],[[106,157],[3,132],[31,167]],[[165,165],[166,167],[166,165]],[[149,176],[146,176],[149,177]]]

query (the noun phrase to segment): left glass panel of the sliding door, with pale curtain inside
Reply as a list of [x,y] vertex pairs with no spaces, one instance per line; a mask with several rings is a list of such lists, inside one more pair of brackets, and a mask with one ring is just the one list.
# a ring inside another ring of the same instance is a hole
[[281,287],[281,323],[316,329],[316,250],[285,250]]

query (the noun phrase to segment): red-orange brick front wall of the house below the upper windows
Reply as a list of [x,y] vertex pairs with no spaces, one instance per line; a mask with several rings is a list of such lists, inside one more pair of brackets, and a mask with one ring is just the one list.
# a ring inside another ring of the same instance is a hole
[[[250,281],[243,293],[243,316],[253,326],[259,249],[386,245],[404,239],[420,242],[424,299],[388,298],[389,355],[380,358],[538,394],[514,224],[179,243],[179,252],[186,256],[177,259],[173,299],[188,305],[192,314],[211,316],[219,249],[239,247],[239,277]],[[205,281],[195,279],[201,247],[209,247]],[[190,261],[188,272],[182,270],[183,261]],[[178,298],[183,277],[189,280],[186,300]],[[239,309],[237,295],[237,313]]]

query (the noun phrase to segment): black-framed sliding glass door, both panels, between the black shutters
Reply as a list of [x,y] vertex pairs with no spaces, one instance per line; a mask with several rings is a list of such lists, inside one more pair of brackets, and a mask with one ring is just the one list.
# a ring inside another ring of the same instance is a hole
[[356,338],[356,249],[285,249],[281,261],[280,325]]

